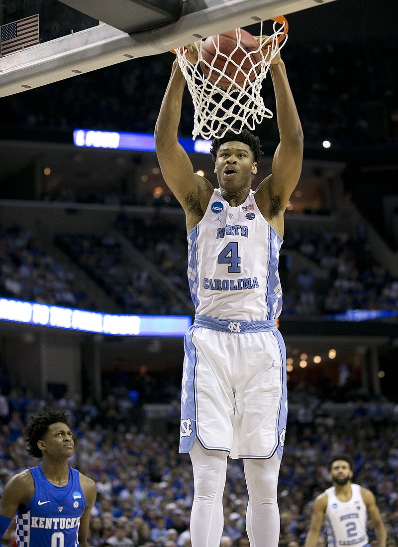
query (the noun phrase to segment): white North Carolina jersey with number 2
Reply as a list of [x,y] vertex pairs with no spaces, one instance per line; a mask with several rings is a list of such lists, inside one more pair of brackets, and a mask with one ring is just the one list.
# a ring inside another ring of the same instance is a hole
[[351,491],[352,496],[348,502],[337,498],[334,486],[325,491],[328,496],[325,513],[328,547],[363,547],[369,543],[366,533],[367,509],[361,488],[358,484],[352,484]]

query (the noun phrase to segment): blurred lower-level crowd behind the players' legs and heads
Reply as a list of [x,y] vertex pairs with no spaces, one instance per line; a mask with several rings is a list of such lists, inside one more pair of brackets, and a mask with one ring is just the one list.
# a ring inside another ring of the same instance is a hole
[[[4,368],[4,363],[2,364]],[[4,378],[4,376],[3,376]],[[89,543],[135,547],[189,547],[193,499],[188,455],[178,454],[179,426],[167,416],[156,428],[120,392],[98,405],[72,397],[43,399],[2,382],[0,394],[0,494],[10,476],[37,464],[27,455],[23,429],[45,405],[63,409],[74,430],[76,450],[70,465],[97,483]],[[354,461],[354,482],[375,494],[388,531],[388,546],[398,544],[398,408],[385,400],[357,399],[344,410],[314,387],[296,387],[278,486],[281,547],[304,544],[314,498],[330,486],[327,462],[335,453]],[[247,490],[240,461],[228,463],[224,491],[222,545],[246,547]],[[7,539],[8,538],[8,539]],[[370,530],[370,543],[377,547]],[[13,545],[13,528],[2,545]],[[319,547],[325,545],[324,533]]]

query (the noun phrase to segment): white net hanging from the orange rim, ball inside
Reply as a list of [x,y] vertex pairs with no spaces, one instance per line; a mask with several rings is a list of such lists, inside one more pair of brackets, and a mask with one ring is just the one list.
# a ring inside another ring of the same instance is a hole
[[212,37],[216,54],[211,62],[203,58],[202,42],[195,42],[198,60],[194,64],[187,60],[185,48],[175,51],[193,100],[194,139],[222,137],[229,129],[240,133],[245,126],[253,131],[264,118],[272,118],[260,92],[271,60],[286,42],[286,19],[277,18],[273,30],[271,36],[263,37],[261,23],[258,49],[247,51],[237,28],[236,47],[228,55],[220,50],[217,34]]

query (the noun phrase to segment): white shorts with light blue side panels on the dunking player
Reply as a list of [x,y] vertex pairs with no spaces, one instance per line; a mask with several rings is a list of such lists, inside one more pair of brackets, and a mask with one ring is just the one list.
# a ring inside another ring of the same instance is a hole
[[277,452],[281,459],[287,420],[282,335],[276,327],[225,330],[194,323],[185,335],[180,452],[189,452],[197,438],[206,449],[228,451],[232,458]]

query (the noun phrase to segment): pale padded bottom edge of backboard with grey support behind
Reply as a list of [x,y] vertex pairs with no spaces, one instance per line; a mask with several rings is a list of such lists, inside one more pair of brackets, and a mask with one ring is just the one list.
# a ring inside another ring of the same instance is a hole
[[[88,0],[83,3],[85,16],[95,26],[78,32],[71,28],[65,36],[0,57],[0,97],[333,1],[115,0],[110,10],[106,0]],[[31,2],[32,11],[38,2]],[[62,4],[81,10],[82,2]]]

